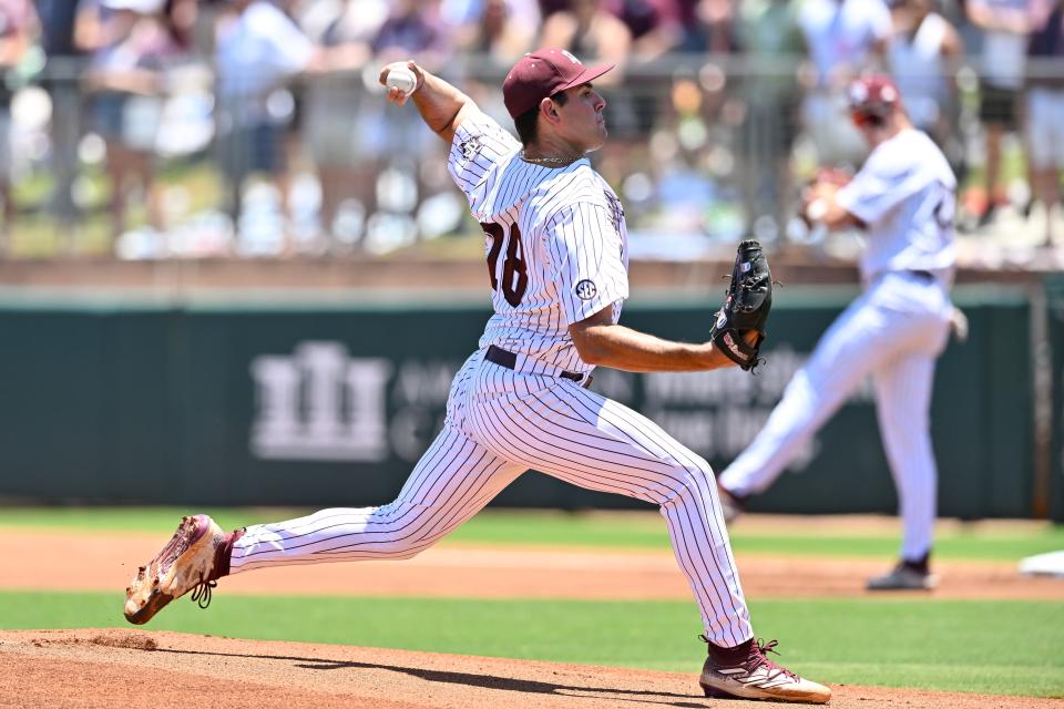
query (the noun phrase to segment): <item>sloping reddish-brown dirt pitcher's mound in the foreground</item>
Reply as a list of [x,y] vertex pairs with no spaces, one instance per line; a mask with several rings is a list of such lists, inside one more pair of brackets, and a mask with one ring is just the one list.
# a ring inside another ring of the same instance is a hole
[[[693,669],[698,658],[692,658]],[[616,709],[764,707],[709,700],[697,677],[132,629],[0,633],[0,703],[16,707]],[[13,669],[13,671],[12,671]],[[821,679],[821,678],[816,678]],[[833,687],[832,707],[988,709],[1052,700]],[[11,703],[9,703],[11,702]]]

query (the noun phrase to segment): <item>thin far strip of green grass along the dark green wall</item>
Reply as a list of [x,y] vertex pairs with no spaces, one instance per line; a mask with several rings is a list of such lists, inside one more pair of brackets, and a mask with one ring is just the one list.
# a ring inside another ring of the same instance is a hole
[[[274,522],[306,514],[305,510],[197,510],[207,512],[225,528]],[[25,507],[6,508],[0,527],[32,526],[170,534],[177,518],[192,511],[178,507]],[[665,524],[654,513],[632,515],[509,512],[489,510],[456,530],[444,541],[463,544],[556,545],[600,548],[668,549]],[[796,531],[760,533],[738,527],[732,533],[737,552],[890,558],[898,551],[896,534],[851,536]],[[945,528],[939,535],[935,557],[944,559],[1016,561],[1032,554],[1064,548],[1064,526],[1032,525],[1022,530],[993,530],[978,524]]]

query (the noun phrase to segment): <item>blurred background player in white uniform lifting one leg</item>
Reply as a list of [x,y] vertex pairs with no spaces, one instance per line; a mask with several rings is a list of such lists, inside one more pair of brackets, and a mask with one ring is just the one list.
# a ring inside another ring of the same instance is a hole
[[749,448],[719,479],[725,515],[764,491],[817,429],[871,374],[879,428],[904,527],[901,562],[870,589],[931,588],[938,472],[929,409],[934,362],[953,307],[956,183],[942,152],[913,129],[898,88],[870,75],[849,90],[853,124],[872,148],[845,186],[820,179],[804,196],[810,222],[867,230],[864,292],[839,316],[795,374]]

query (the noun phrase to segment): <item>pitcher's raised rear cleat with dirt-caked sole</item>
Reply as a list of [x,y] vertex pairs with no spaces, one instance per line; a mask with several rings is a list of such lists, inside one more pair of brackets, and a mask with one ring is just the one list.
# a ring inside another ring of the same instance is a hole
[[[221,556],[229,537],[205,514],[182,517],[166,546],[137,569],[125,589],[125,619],[136,625],[151,620],[174,598],[195,589],[192,599],[206,608],[221,573]],[[227,564],[225,564],[227,566]]]

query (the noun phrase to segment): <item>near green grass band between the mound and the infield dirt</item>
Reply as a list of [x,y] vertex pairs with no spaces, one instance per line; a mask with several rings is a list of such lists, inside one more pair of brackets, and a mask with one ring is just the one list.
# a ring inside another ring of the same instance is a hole
[[[0,593],[0,627],[122,626],[120,594]],[[831,684],[1064,697],[1064,604],[763,600],[787,667]],[[150,629],[697,671],[690,603],[267,597],[186,599]]]

